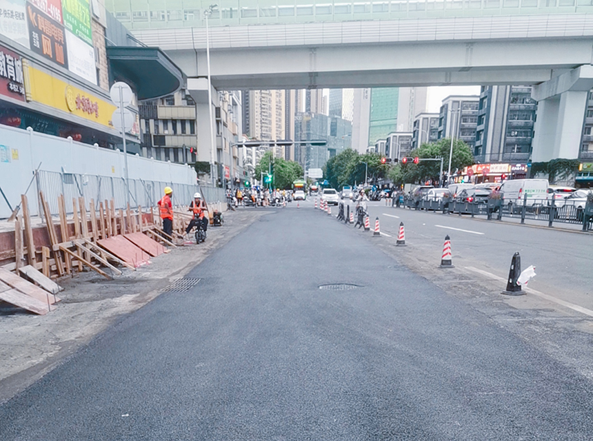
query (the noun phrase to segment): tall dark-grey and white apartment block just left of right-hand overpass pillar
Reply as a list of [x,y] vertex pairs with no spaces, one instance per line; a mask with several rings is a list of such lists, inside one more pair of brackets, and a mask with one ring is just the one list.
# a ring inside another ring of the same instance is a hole
[[526,163],[532,149],[537,103],[531,86],[483,86],[474,157],[481,163]]

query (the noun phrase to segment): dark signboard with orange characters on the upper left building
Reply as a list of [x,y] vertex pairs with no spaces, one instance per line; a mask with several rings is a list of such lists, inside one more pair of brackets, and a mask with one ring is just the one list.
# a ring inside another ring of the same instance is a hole
[[68,68],[68,49],[63,26],[57,21],[47,19],[39,8],[31,4],[27,5],[27,22],[31,50]]

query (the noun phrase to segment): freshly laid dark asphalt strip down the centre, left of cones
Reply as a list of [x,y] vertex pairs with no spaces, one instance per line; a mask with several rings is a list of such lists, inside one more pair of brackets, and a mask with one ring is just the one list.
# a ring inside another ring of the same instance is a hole
[[[312,207],[0,407],[0,440],[590,440],[593,384]],[[440,222],[440,221],[439,221]],[[350,283],[353,289],[319,289]]]

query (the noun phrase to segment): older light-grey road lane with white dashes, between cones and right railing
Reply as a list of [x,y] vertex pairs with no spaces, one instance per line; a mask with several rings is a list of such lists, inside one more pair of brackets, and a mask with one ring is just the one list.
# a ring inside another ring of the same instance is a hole
[[379,216],[381,231],[393,239],[403,222],[408,247],[432,256],[435,264],[441,258],[446,235],[452,241],[456,266],[485,269],[503,278],[518,251],[523,269],[536,267],[537,276],[530,287],[593,309],[593,234],[385,207],[384,201],[368,203],[368,210],[371,223]]

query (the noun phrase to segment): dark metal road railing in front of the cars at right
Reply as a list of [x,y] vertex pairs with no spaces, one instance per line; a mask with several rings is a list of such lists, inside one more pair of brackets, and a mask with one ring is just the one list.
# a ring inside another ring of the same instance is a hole
[[593,230],[593,203],[586,205],[561,201],[529,201],[525,199],[520,205],[509,203],[502,199],[490,199],[486,202],[462,202],[443,198],[423,198],[414,196],[401,196],[394,198],[393,205],[408,207],[410,209],[432,210],[450,214],[468,214],[472,217],[486,216],[488,220],[503,220],[515,218],[525,223],[525,219],[541,220],[547,222],[548,227],[554,223],[572,223],[582,225],[583,231]]

